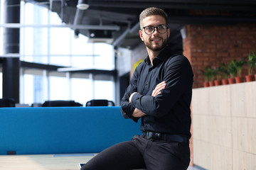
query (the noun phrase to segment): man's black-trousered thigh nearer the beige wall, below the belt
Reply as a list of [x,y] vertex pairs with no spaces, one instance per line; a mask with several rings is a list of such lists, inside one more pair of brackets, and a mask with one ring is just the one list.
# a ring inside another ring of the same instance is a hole
[[152,142],[144,152],[147,170],[186,170],[190,162],[189,145],[185,142]]

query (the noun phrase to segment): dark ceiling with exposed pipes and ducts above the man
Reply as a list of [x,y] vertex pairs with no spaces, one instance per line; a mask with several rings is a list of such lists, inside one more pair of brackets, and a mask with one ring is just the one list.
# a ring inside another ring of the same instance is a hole
[[[78,0],[25,0],[58,13],[76,35],[90,42],[108,42],[115,47],[134,48],[139,39],[139,13],[144,8],[163,8],[169,16],[169,43],[182,47],[181,28],[186,24],[256,23],[255,0],[86,0],[80,10]],[[179,42],[179,43],[177,43]]]

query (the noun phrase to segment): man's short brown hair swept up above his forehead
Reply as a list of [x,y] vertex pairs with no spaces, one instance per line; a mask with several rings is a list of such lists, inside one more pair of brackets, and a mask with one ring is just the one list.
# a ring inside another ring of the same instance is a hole
[[139,15],[139,24],[142,26],[142,20],[148,16],[162,16],[164,17],[165,21],[166,21],[166,25],[168,25],[168,16],[166,14],[166,12],[164,10],[162,10],[161,8],[156,8],[156,7],[150,7],[150,8],[146,8],[144,9],[144,11],[142,11],[142,13],[140,13]]

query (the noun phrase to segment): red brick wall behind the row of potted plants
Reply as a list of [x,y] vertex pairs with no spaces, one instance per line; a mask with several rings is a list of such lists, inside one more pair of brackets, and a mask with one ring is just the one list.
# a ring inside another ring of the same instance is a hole
[[[183,39],[183,52],[191,61],[194,72],[193,88],[203,86],[201,73],[208,65],[218,67],[219,61],[230,62],[247,57],[256,51],[256,25],[232,26],[187,25]],[[243,74],[247,72],[243,69]]]

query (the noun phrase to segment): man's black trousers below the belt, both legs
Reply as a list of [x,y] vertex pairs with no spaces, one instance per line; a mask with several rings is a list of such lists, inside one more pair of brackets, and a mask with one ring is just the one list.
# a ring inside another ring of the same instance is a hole
[[188,142],[166,142],[135,135],[132,141],[100,152],[81,170],[186,170],[189,162]]

